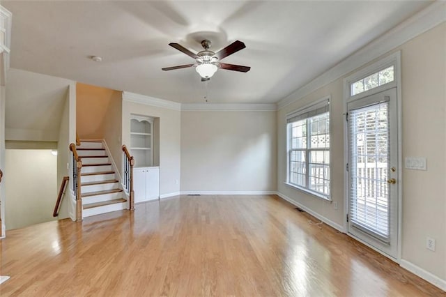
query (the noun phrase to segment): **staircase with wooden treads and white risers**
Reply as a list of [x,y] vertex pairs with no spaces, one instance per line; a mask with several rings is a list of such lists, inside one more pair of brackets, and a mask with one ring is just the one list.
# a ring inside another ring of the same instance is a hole
[[121,211],[128,208],[127,200],[116,178],[112,162],[101,141],[82,140],[76,146],[82,160],[82,217]]

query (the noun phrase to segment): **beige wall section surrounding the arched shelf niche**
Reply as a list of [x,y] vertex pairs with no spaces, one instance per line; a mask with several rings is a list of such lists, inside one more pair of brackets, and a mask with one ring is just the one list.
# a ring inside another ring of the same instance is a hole
[[[160,195],[180,191],[180,111],[123,100],[123,144],[130,147],[130,114],[160,118]],[[177,183],[178,181],[178,183]]]

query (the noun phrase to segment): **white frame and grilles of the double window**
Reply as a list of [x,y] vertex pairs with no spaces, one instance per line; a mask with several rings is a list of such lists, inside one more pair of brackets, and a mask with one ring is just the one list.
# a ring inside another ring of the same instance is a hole
[[[331,134],[331,121],[330,121],[330,114],[331,114],[331,106],[330,106],[330,96],[326,96],[324,98],[321,98],[319,100],[316,100],[314,102],[312,102],[309,105],[305,105],[303,107],[300,107],[299,109],[295,109],[293,112],[290,112],[289,114],[286,114],[286,182],[285,185],[288,185],[291,188],[295,188],[297,190],[300,190],[302,192],[305,192],[309,195],[312,195],[314,197],[318,197],[327,201],[332,201],[331,198],[331,194],[332,194],[332,183],[331,183],[331,176],[332,176],[332,168],[331,168],[331,160],[330,160],[330,156],[331,156],[331,145],[328,146],[328,148],[311,148],[309,147],[310,139],[311,139],[311,125],[309,124],[309,119],[311,119],[312,117],[316,116],[315,115],[309,115],[305,118],[306,122],[306,137],[307,137],[307,147],[306,148],[291,148],[291,142],[292,142],[292,134],[291,134],[291,125],[297,121],[293,121],[293,122],[288,122],[289,119],[293,118],[294,116],[298,116],[299,114],[305,114],[305,113],[309,113],[312,111],[315,111],[318,108],[324,107],[324,106],[328,106],[328,135]],[[321,114],[325,114],[325,112],[321,113]],[[320,115],[320,114],[317,114]],[[301,119],[303,120],[303,119]],[[300,120],[300,121],[301,121]],[[302,185],[297,185],[295,183],[291,183],[291,153],[293,151],[304,151],[305,152],[305,186]],[[325,195],[321,192],[312,190],[311,188],[309,188],[309,180],[311,178],[310,174],[309,174],[309,165],[311,164],[309,156],[311,154],[312,151],[323,151],[323,152],[328,152],[329,155],[329,162],[328,162],[328,178],[326,178],[328,180],[328,182],[330,183],[330,185],[328,186],[328,195]]]

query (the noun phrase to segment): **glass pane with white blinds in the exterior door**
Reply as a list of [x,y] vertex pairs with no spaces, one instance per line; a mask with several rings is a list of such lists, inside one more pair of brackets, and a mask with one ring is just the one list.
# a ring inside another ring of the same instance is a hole
[[348,111],[351,155],[350,220],[362,231],[388,241],[389,102]]

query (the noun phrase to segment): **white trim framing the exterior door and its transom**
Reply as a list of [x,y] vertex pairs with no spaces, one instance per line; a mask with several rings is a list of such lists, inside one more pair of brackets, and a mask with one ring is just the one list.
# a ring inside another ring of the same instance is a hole
[[[384,85],[383,87],[378,87],[376,89],[372,89],[370,91],[365,91],[364,93],[360,93],[354,96],[355,99],[359,99],[362,97],[370,96],[373,93],[378,91],[384,91],[386,89],[392,89],[393,87],[397,87],[397,151],[398,151],[398,172],[399,172],[399,183],[398,185],[398,234],[397,234],[397,263],[401,263],[401,232],[402,232],[402,209],[403,209],[403,149],[402,149],[402,108],[401,108],[401,51],[394,52],[388,56],[385,56],[383,59],[372,63],[371,65],[360,68],[352,75],[344,78],[344,223],[343,227],[346,230],[346,234],[348,234],[348,223],[347,223],[347,213],[348,213],[348,172],[346,171],[346,164],[348,163],[348,124],[346,121],[347,114],[347,103],[351,99],[350,96],[350,84],[352,82],[356,82],[358,79],[362,77],[367,77],[367,75],[374,73],[380,68],[385,67],[386,65],[394,65],[394,82]],[[351,234],[348,234],[351,236]],[[354,236],[352,236],[355,238]],[[355,238],[358,239],[358,238]],[[361,241],[364,243],[364,241]],[[364,243],[374,250],[376,248],[371,245]],[[378,252],[380,252],[378,250]],[[380,252],[383,254],[382,252]],[[384,254],[386,257],[389,257],[387,254]],[[395,260],[392,257],[389,259]]]

